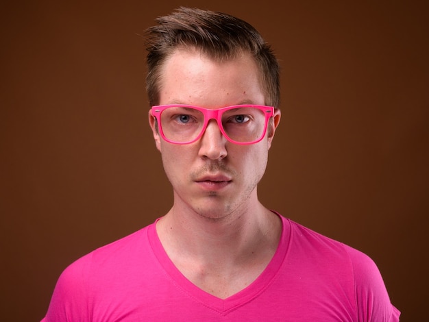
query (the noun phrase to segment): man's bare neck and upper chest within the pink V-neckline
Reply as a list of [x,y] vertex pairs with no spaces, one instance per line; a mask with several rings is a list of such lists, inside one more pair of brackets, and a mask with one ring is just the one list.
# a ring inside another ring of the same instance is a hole
[[225,298],[252,283],[274,256],[280,218],[259,201],[217,219],[173,206],[157,224],[169,258],[191,282]]

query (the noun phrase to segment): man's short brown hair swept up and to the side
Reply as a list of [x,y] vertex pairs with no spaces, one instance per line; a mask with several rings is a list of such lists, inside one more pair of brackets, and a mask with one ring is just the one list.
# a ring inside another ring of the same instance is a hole
[[249,53],[255,59],[265,90],[265,104],[280,104],[280,67],[271,47],[249,23],[224,14],[180,7],[156,19],[158,25],[147,33],[147,95],[151,106],[159,103],[162,65],[178,47],[194,47],[217,60]]

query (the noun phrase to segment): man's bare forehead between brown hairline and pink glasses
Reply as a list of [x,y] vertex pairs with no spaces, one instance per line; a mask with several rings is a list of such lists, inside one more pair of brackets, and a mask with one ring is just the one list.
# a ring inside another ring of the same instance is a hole
[[160,76],[160,104],[265,102],[260,71],[248,53],[217,60],[196,49],[177,49],[164,62]]

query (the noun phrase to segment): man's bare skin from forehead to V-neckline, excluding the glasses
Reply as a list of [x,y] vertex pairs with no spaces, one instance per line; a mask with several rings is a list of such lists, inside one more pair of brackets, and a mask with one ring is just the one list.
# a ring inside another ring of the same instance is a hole
[[[260,73],[247,54],[217,62],[195,49],[177,49],[163,66],[160,105],[222,108],[265,105]],[[227,298],[251,284],[278,246],[278,216],[258,201],[280,110],[265,138],[254,145],[226,140],[214,120],[189,145],[164,141],[149,111],[149,124],[173,186],[171,210],[157,223],[167,255],[193,284]]]

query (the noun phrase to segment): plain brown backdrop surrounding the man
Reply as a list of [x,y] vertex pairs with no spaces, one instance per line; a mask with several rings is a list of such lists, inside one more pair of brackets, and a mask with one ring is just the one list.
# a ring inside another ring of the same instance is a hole
[[164,214],[139,34],[178,5],[235,14],[282,64],[260,198],[368,253],[402,321],[427,317],[425,1],[5,1],[1,320],[38,321],[79,256]]

